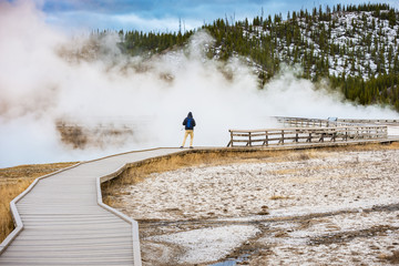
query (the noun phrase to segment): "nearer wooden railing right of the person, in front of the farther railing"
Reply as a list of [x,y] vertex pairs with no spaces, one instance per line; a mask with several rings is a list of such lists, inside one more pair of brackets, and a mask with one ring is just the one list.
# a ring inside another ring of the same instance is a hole
[[346,142],[350,140],[387,139],[388,127],[336,126],[336,127],[286,127],[268,130],[229,130],[227,146],[269,146],[293,143]]

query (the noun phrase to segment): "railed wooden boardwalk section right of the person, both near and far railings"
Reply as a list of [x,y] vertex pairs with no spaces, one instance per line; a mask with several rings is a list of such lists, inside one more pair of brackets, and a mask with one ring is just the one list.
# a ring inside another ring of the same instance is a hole
[[[229,130],[227,146],[258,146],[308,144],[323,146],[325,142],[346,144],[390,142],[398,139],[398,120],[347,120],[329,117],[306,119],[275,116],[284,126],[265,130]],[[389,135],[392,134],[392,135]],[[318,144],[317,144],[318,143]],[[335,144],[332,144],[335,145]]]

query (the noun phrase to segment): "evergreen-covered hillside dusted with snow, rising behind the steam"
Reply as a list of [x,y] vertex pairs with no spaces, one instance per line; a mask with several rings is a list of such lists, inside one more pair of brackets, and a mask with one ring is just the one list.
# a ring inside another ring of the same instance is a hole
[[[215,39],[208,57],[244,57],[260,84],[282,63],[299,64],[303,78],[326,78],[331,86],[360,104],[390,104],[399,111],[399,12],[388,4],[335,6],[323,9],[215,20],[202,28]],[[121,31],[123,49],[150,55],[184,45],[194,31],[143,33]]]

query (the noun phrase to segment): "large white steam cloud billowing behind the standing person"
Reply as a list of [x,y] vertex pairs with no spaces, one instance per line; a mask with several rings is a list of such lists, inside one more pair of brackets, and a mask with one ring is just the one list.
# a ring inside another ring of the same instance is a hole
[[[0,167],[180,146],[190,111],[196,146],[226,145],[228,129],[277,126],[268,117],[274,115],[398,119],[388,109],[345,102],[327,84],[316,90],[293,69],[258,90],[239,58],[206,59],[204,49],[213,42],[206,32],[182,50],[144,60],[122,54],[112,34],[96,41],[51,28],[30,1],[0,2]],[[62,123],[127,126],[133,134],[115,132],[99,146],[75,150],[61,142]]]

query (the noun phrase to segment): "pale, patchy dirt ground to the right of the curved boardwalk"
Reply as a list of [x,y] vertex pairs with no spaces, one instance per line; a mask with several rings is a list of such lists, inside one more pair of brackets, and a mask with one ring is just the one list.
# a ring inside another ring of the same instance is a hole
[[399,150],[152,174],[117,196],[143,265],[399,264]]

